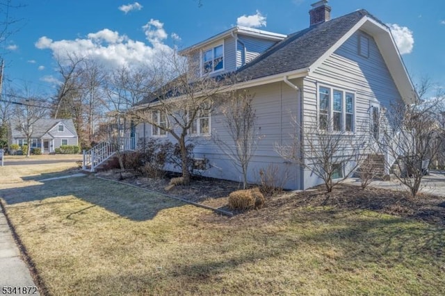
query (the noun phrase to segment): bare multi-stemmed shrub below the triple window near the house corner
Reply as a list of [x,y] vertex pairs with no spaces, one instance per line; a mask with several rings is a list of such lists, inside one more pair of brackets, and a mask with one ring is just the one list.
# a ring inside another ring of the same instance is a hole
[[[295,118],[293,123],[298,127]],[[365,135],[332,131],[332,126],[332,122],[326,122],[326,129],[311,124],[305,127],[301,140],[294,135],[291,145],[275,145],[280,156],[323,180],[327,192],[350,177],[366,155]]]

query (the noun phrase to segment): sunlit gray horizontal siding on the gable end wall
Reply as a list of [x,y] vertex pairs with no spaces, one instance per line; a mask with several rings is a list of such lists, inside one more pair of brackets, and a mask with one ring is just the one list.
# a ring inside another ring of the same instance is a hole
[[[357,32],[304,80],[304,124],[317,121],[319,85],[332,86],[355,93],[356,135],[369,132],[369,108],[373,103],[389,108],[401,102],[394,80],[373,38],[369,35],[369,58],[358,54]],[[305,188],[321,183],[305,173]]]

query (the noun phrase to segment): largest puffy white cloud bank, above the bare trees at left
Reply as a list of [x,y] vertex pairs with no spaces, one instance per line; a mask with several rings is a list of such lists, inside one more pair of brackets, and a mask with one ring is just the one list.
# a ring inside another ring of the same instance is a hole
[[61,60],[73,54],[88,57],[110,69],[141,64],[150,65],[157,63],[162,54],[172,52],[173,49],[164,43],[168,34],[162,22],[151,19],[142,28],[148,42],[131,40],[127,35],[104,28],[101,31],[89,33],[85,38],[74,40],[52,40],[47,36],[42,36],[35,42],[35,47],[49,49],[54,57],[59,57]]

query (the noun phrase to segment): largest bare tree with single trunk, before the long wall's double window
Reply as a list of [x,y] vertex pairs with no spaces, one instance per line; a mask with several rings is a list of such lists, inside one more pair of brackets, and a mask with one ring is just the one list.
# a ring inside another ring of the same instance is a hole
[[152,125],[154,135],[172,135],[181,151],[181,174],[190,183],[191,170],[186,141],[189,134],[210,135],[209,114],[216,107],[216,94],[223,97],[222,78],[200,73],[200,63],[186,60],[177,52],[164,54],[162,67],[153,71],[156,91],[133,115]]

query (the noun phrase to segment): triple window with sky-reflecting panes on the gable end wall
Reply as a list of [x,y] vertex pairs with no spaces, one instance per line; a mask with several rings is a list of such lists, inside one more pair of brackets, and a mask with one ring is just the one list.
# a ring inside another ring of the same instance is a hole
[[355,128],[355,94],[339,88],[318,88],[318,128],[349,131]]

